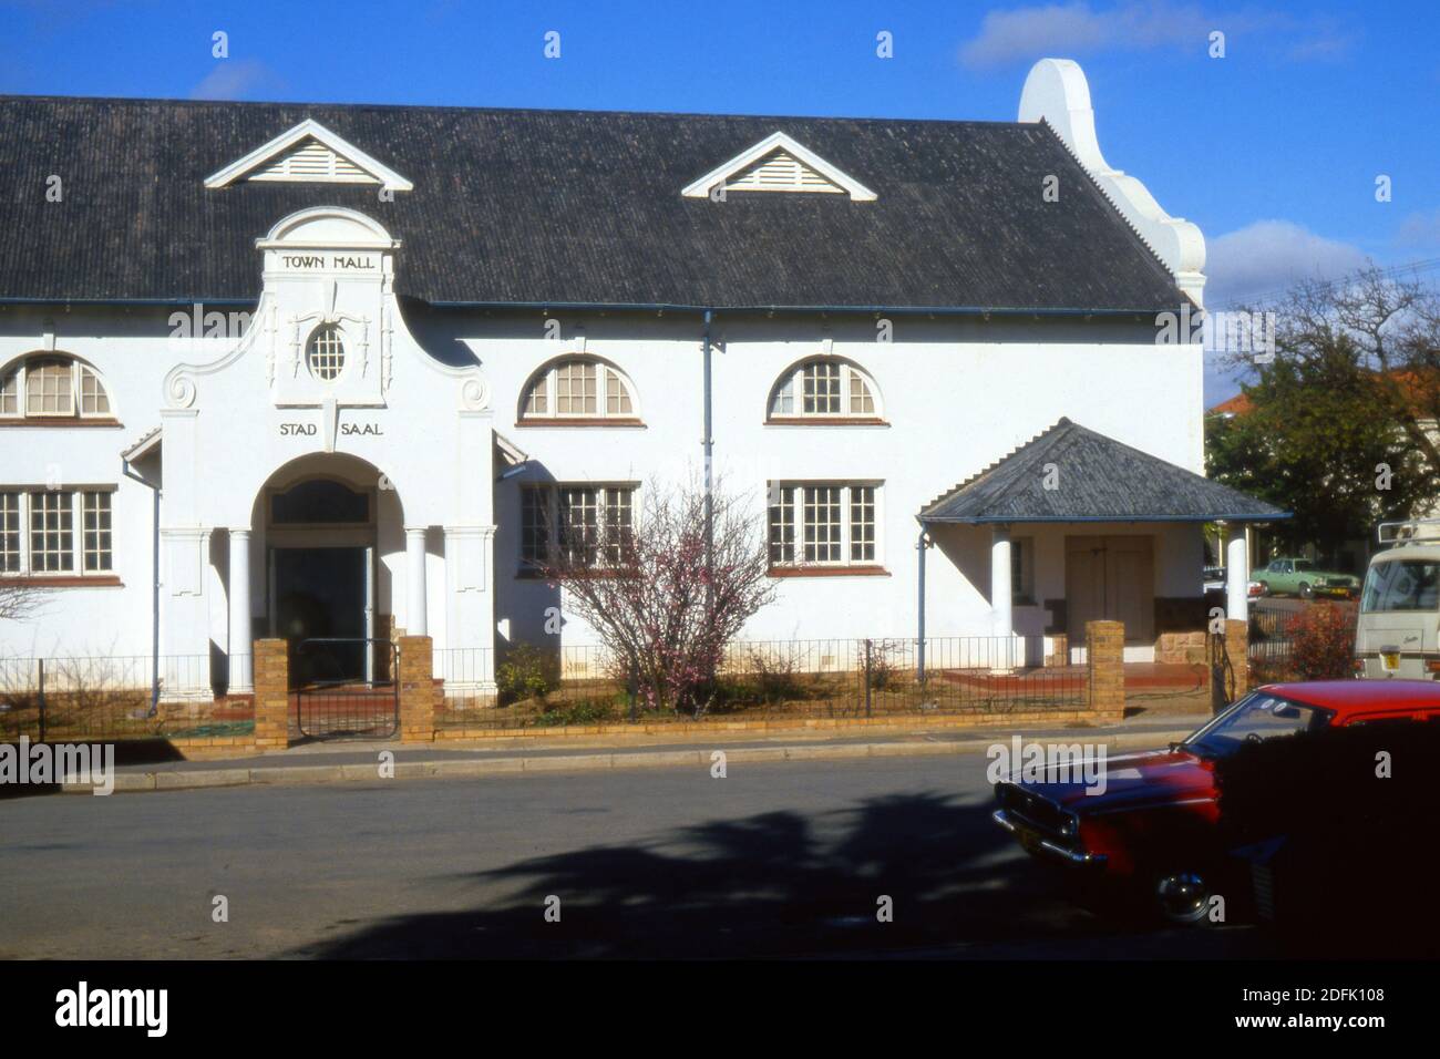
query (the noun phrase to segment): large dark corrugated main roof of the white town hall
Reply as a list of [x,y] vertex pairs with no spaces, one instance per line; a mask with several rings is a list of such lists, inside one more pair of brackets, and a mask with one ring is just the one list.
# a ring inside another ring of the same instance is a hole
[[[305,118],[415,190],[204,187]],[[776,130],[878,200],[681,196]],[[0,98],[0,298],[253,301],[255,239],[318,205],[402,239],[396,288],[431,303],[1155,313],[1184,297],[1043,124]]]

